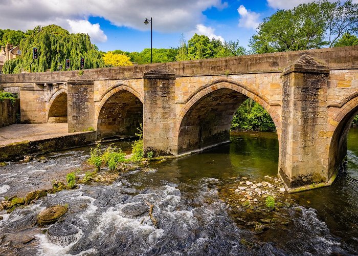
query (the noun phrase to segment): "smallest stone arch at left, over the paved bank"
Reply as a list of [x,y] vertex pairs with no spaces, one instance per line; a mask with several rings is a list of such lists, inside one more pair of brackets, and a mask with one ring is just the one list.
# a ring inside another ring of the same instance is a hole
[[46,120],[48,123],[66,123],[68,117],[67,91],[63,88],[55,92],[49,103]]

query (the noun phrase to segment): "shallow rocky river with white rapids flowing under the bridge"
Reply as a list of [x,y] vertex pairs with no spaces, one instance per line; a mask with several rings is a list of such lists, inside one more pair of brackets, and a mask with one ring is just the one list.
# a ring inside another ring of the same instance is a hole
[[[151,162],[149,171],[121,173],[113,184],[81,185],[11,214],[0,211],[0,255],[358,254],[358,129],[350,130],[347,165],[332,186],[293,195],[277,190],[283,206],[273,211],[255,193],[245,205],[235,189],[247,181],[282,186],[275,181],[277,135],[237,133],[231,139],[202,154]],[[130,142],[117,145],[129,153]],[[89,148],[79,148],[0,167],[0,201],[65,181],[88,155]],[[57,204],[69,211],[39,227],[39,212]],[[128,214],[131,207],[137,215]]]

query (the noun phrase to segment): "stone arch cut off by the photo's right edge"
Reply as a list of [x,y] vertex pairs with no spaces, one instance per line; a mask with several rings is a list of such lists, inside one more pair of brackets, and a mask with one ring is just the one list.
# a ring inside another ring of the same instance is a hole
[[357,114],[358,96],[343,104],[329,121],[328,131],[332,132],[332,137],[328,152],[328,179],[338,172],[347,155],[347,136]]

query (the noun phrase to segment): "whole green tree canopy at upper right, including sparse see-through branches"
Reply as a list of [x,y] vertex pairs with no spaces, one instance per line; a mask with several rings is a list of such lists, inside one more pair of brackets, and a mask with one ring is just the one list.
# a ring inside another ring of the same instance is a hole
[[[358,4],[326,0],[279,10],[263,19],[250,40],[255,53],[333,46],[344,33],[358,32]],[[327,41],[328,39],[328,41]]]

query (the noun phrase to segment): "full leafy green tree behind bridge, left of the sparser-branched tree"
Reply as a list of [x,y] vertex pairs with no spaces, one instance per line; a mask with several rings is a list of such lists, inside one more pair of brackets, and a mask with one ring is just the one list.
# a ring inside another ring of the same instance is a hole
[[250,47],[256,53],[320,48],[326,45],[325,28],[326,17],[321,4],[301,4],[264,18],[250,40]]

